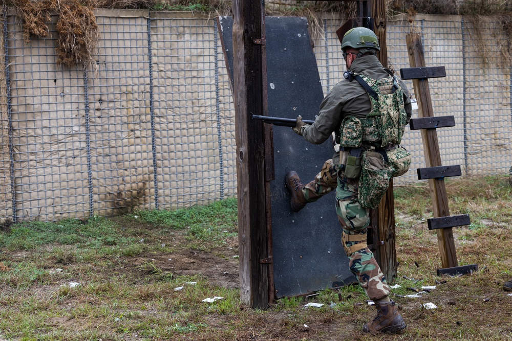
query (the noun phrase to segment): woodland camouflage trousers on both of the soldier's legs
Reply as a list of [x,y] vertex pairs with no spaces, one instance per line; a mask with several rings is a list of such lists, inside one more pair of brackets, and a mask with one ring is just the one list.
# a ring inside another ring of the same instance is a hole
[[[313,202],[336,188],[336,213],[343,232],[349,235],[366,234],[370,224],[370,210],[362,207],[357,200],[358,181],[348,180],[342,172],[337,176],[337,167],[327,160],[314,180],[304,186],[306,200]],[[347,242],[350,247],[356,242]],[[350,271],[357,278],[368,297],[374,302],[390,294],[386,279],[373,253],[368,247],[356,251],[349,257]]]

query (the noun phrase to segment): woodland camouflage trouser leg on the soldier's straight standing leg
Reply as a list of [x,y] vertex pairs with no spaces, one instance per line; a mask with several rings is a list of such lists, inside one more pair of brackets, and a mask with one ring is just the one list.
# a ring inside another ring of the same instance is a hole
[[[358,200],[358,182],[351,181],[345,176],[338,177],[336,189],[336,213],[342,225],[343,232],[349,235],[366,234],[370,224],[370,211],[362,207]],[[356,242],[347,242],[350,247]],[[373,253],[368,247],[356,251],[349,257],[350,271],[357,278],[368,297],[379,301],[390,294],[390,288]]]

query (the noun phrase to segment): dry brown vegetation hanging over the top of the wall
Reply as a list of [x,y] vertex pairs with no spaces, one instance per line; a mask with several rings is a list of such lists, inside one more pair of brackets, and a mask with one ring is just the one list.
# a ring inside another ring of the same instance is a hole
[[[226,15],[231,11],[230,0],[4,0],[4,5],[15,8],[24,22],[24,40],[47,37],[48,24],[52,16],[58,17],[56,30],[57,63],[72,67],[89,65],[93,60],[98,43],[98,26],[94,16],[95,8],[148,9],[148,10],[190,10],[207,11],[216,15]],[[305,16],[310,22],[313,37],[323,35],[322,19],[326,15],[333,18],[356,16],[356,2],[332,1],[285,1],[269,0],[267,15]],[[411,20],[417,13],[462,15],[472,26],[472,39],[476,41],[478,53],[484,62],[497,62],[508,66],[512,62],[510,37],[512,37],[512,0],[387,0],[389,15],[406,13]],[[484,21],[497,22],[506,39],[482,37],[480,28]],[[489,44],[499,43],[499,53]],[[484,58],[485,57],[485,58]]]

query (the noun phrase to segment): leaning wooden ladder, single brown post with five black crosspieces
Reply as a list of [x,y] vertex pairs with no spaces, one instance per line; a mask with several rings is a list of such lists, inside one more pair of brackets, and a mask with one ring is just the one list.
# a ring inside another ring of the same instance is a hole
[[466,274],[478,269],[477,264],[459,266],[452,228],[469,225],[468,214],[450,216],[444,178],[462,175],[460,166],[442,166],[439,153],[436,128],[455,126],[453,116],[434,117],[429,88],[429,78],[446,77],[444,66],[425,67],[423,46],[419,33],[406,36],[409,52],[409,69],[400,69],[402,80],[412,79],[414,93],[418,101],[417,119],[411,119],[411,130],[421,129],[426,168],[418,168],[418,179],[428,179],[434,206],[434,218],[428,219],[429,230],[436,230],[439,252],[441,253],[441,269],[437,275]]

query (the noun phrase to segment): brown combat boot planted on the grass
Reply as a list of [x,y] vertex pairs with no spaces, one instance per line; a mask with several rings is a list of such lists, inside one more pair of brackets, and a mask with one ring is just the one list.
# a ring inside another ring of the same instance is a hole
[[376,302],[375,307],[377,308],[377,316],[372,322],[368,322],[362,327],[362,331],[365,333],[376,331],[394,333],[407,327],[402,315],[398,313],[395,302]]

